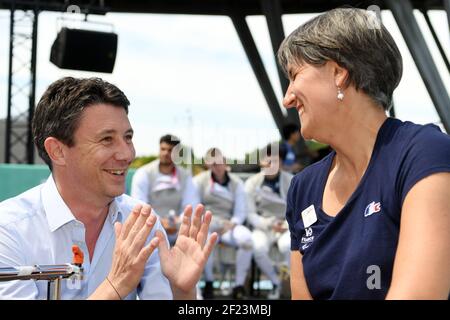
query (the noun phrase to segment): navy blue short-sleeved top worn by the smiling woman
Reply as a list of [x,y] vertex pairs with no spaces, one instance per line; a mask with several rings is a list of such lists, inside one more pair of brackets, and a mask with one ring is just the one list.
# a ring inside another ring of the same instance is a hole
[[[322,198],[334,156],[333,151],[291,182],[286,209],[291,250],[303,255],[305,279],[314,299],[384,299],[403,201],[419,180],[450,172],[450,137],[435,125],[388,118],[359,185],[331,217],[322,210]],[[305,228],[301,212],[310,206],[317,221]]]

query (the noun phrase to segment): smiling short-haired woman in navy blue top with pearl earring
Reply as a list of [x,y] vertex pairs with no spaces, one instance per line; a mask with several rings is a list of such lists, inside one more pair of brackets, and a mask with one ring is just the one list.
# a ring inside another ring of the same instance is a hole
[[369,12],[328,11],[278,52],[305,139],[334,151],[297,174],[286,217],[294,299],[447,299],[450,137],[386,116],[400,52]]

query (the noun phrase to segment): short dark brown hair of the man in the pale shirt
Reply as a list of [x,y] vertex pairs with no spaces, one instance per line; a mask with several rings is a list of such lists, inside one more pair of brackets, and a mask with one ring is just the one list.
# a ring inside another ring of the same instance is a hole
[[34,112],[32,132],[39,156],[50,170],[52,162],[44,147],[45,139],[54,137],[72,147],[84,109],[100,103],[123,108],[128,114],[130,102],[125,94],[100,78],[65,77],[44,92]]

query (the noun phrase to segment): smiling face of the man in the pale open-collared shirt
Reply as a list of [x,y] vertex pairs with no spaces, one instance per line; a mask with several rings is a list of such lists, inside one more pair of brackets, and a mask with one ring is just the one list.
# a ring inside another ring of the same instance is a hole
[[83,111],[66,148],[65,177],[90,197],[112,199],[125,192],[127,169],[135,157],[133,130],[123,108],[96,104]]

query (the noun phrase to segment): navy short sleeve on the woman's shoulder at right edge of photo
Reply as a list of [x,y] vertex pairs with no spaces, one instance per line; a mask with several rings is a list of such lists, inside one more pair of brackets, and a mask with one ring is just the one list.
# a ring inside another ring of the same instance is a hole
[[417,182],[438,172],[450,172],[450,136],[435,125],[426,125],[408,143],[400,165],[397,180],[400,205],[403,206],[406,195]]

